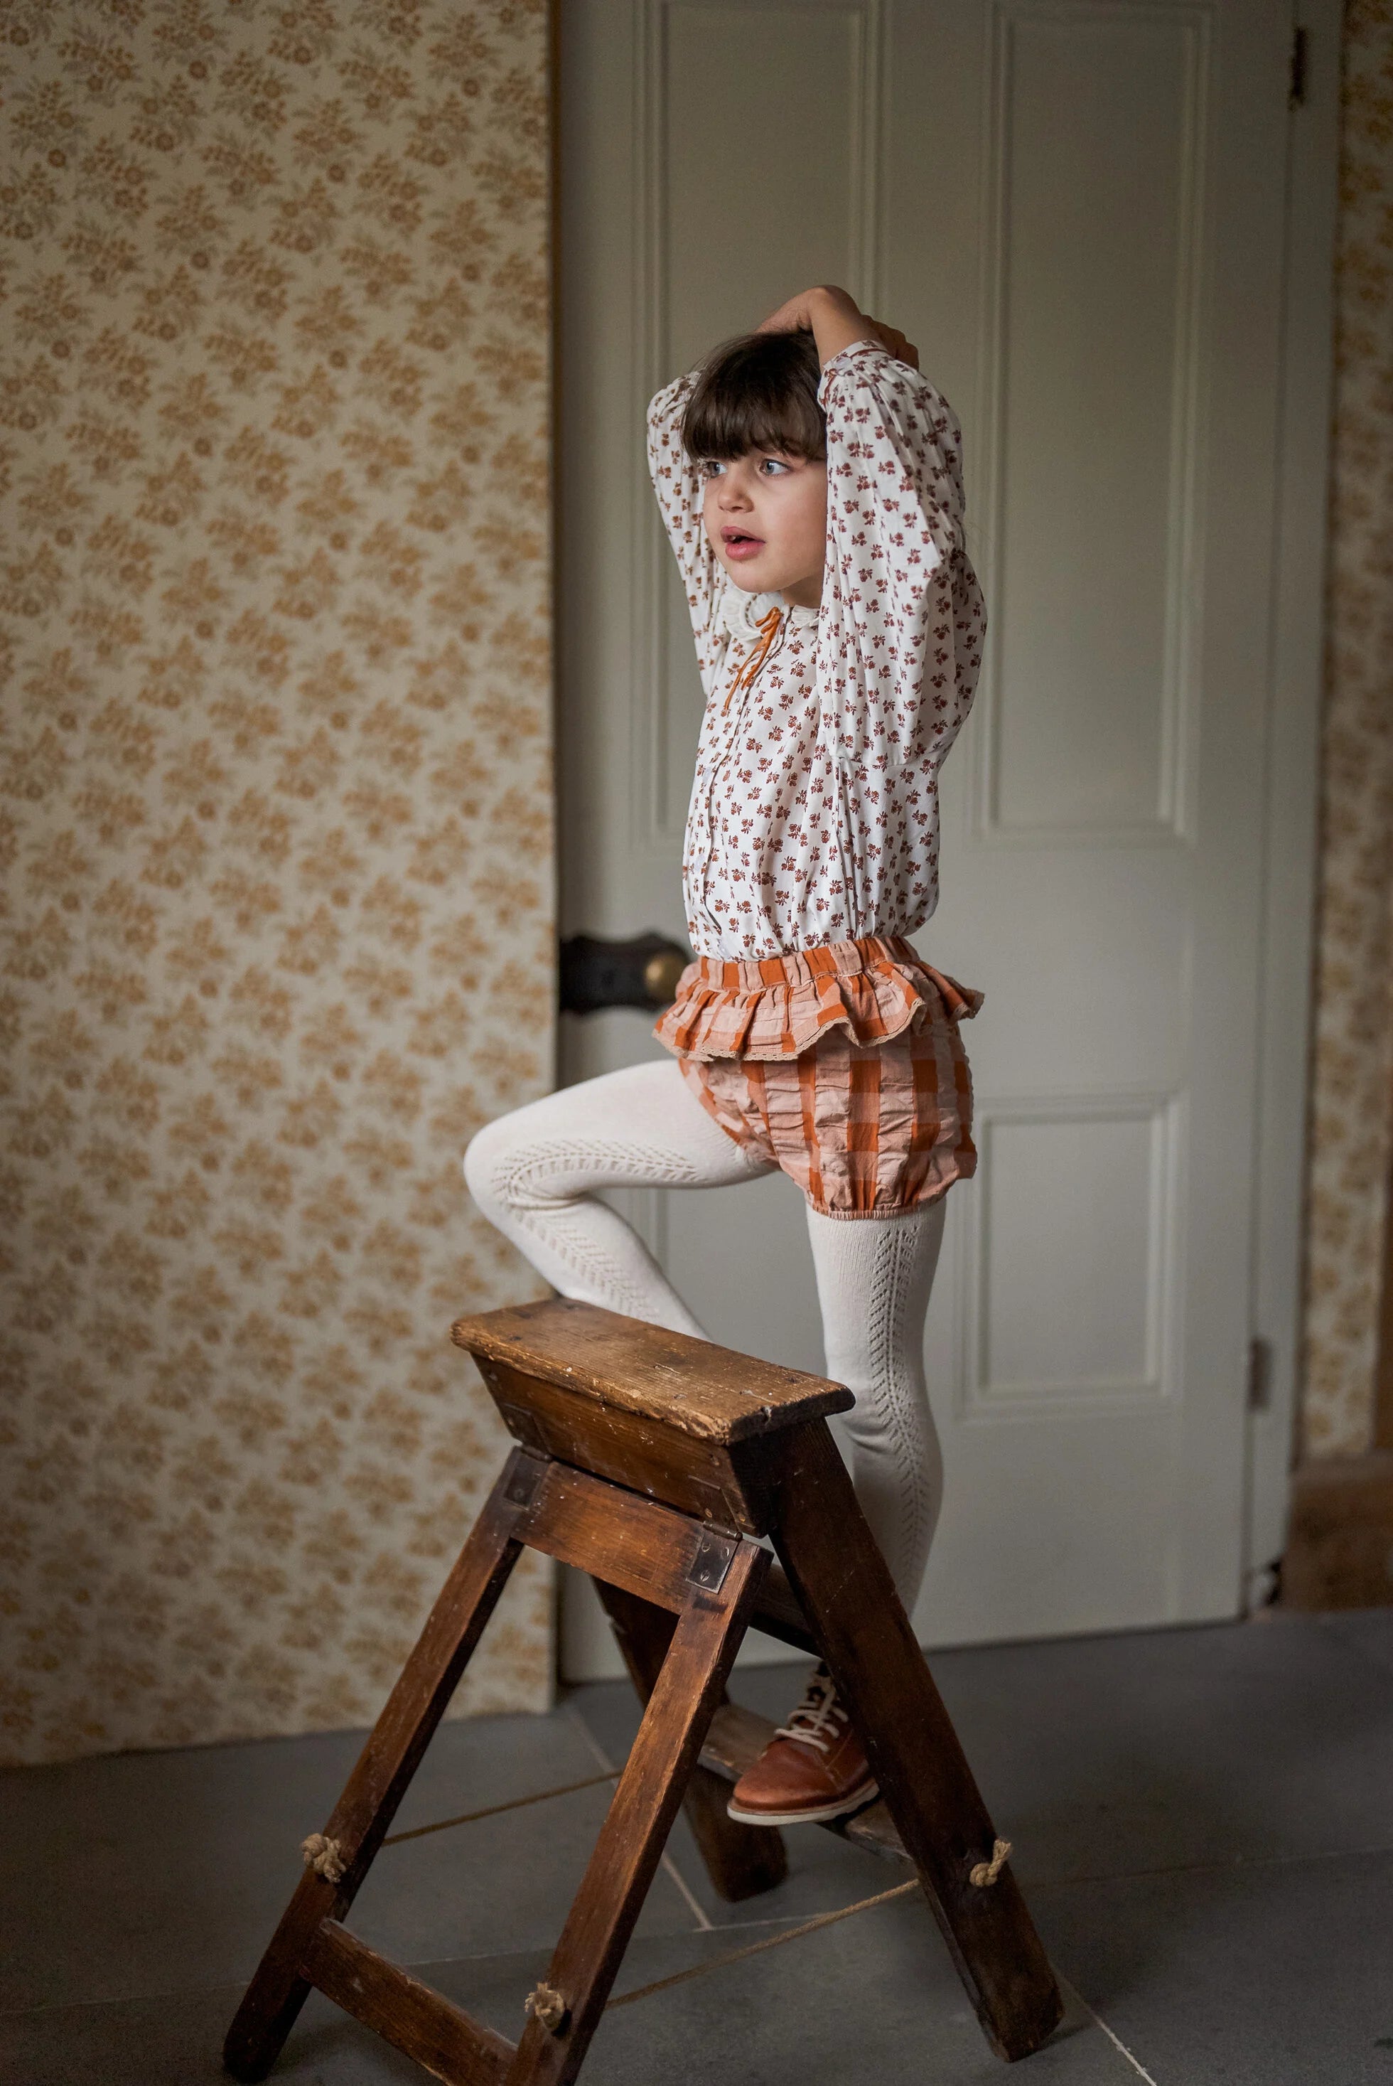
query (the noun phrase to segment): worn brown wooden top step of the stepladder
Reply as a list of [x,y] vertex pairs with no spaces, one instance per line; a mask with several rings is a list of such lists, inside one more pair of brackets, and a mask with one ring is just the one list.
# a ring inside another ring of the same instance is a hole
[[705,1441],[744,1441],[855,1404],[842,1383],[551,1297],[461,1318],[457,1348]]

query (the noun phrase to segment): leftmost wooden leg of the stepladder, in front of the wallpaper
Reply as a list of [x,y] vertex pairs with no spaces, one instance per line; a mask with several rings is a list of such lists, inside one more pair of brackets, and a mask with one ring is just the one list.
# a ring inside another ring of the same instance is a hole
[[[536,1458],[515,1450],[440,1590],[400,1679],[325,1825],[344,1873],[307,1869],[256,1975],[227,2030],[223,2063],[238,2080],[263,2080],[309,1994],[304,1950],[323,1919],[342,1919],[382,1846],[461,1673],[517,1562],[513,1527],[528,1504]],[[513,1494],[513,1498],[509,1498]],[[521,1498],[519,1498],[521,1496]]]

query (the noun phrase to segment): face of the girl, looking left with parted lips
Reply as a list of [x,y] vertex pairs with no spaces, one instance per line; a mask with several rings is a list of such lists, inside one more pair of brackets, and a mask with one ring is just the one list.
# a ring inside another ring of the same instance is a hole
[[815,609],[828,555],[828,467],[822,459],[751,448],[701,465],[707,540],[747,595],[782,595]]

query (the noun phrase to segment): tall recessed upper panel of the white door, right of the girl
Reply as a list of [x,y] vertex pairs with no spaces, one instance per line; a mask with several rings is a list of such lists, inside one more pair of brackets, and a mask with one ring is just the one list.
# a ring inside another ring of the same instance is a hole
[[980,154],[1001,515],[988,830],[1174,822],[1201,21],[1122,6],[997,23]]

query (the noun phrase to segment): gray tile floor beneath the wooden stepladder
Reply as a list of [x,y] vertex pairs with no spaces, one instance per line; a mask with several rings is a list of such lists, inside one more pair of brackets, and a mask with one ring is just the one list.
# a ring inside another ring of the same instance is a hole
[[[945,1652],[934,1671],[1070,2011],[1057,2086],[1393,2086],[1393,1610]],[[740,1673],[782,1715],[797,1671]],[[398,1827],[621,1761],[626,1688],[446,1725]],[[357,1733],[0,1777],[0,2078],[213,2086],[219,2044]],[[509,2036],[607,1796],[386,1848],[352,1925]],[[788,1834],[788,1882],[722,1905],[678,1823],[619,1988],[899,1879]],[[899,1900],[611,2013],[594,2086],[1001,2078],[926,1907]],[[419,2080],[319,1996],[275,2080]]]

